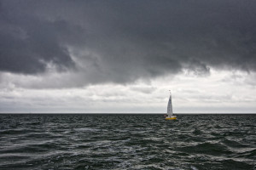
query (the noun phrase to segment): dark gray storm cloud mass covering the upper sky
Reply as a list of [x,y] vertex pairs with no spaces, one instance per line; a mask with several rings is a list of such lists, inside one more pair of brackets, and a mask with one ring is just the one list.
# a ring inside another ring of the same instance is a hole
[[76,68],[83,84],[256,68],[255,1],[0,4],[0,71]]

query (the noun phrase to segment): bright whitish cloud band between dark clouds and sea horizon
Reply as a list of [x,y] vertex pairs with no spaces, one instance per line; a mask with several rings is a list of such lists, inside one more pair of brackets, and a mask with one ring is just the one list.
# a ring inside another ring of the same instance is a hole
[[256,73],[212,70],[208,77],[171,77],[129,86],[2,88],[0,113],[166,113],[168,89],[172,89],[175,113],[255,113]]

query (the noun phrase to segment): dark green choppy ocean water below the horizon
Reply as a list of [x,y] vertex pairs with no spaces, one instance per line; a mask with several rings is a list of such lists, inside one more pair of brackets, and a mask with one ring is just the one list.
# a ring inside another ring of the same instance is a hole
[[0,115],[0,169],[256,169],[256,115]]

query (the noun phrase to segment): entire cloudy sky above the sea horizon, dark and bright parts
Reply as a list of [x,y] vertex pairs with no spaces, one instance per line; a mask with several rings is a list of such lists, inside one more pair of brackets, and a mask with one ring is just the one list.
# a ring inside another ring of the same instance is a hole
[[254,0],[0,0],[0,113],[256,113]]

